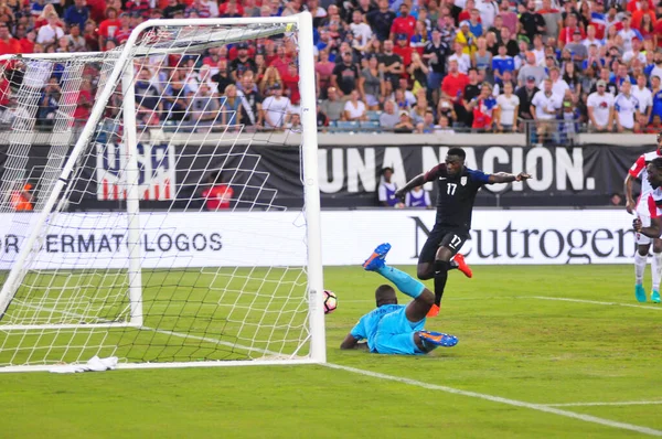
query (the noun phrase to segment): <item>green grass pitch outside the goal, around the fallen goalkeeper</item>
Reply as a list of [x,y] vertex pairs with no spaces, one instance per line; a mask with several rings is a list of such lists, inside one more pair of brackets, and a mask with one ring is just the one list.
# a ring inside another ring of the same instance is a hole
[[662,306],[634,301],[631,266],[452,272],[427,328],[457,335],[456,347],[341,352],[380,281],[360,268],[325,269],[340,300],[327,317],[332,367],[0,374],[0,437],[662,436]]

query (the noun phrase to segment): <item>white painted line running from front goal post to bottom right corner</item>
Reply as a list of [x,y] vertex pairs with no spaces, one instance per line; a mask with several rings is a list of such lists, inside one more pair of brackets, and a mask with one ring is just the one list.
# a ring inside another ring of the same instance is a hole
[[412,378],[405,378],[402,376],[394,376],[394,375],[386,375],[386,374],[382,374],[378,372],[365,371],[365,370],[350,367],[350,366],[343,366],[343,365],[334,364],[334,363],[324,363],[321,365],[323,365],[325,367],[330,367],[330,368],[351,372],[351,373],[359,374],[359,375],[370,376],[373,378],[392,381],[392,382],[407,384],[409,386],[421,387],[421,388],[426,388],[428,390],[445,392],[447,394],[468,396],[468,397],[478,398],[478,399],[485,399],[485,400],[490,400],[492,403],[505,404],[505,405],[514,406],[514,407],[528,408],[531,410],[544,411],[544,413],[548,413],[552,415],[564,416],[566,418],[583,420],[585,422],[598,424],[598,425],[611,427],[611,428],[619,428],[621,430],[636,431],[636,432],[639,432],[642,435],[662,437],[662,430],[655,430],[655,429],[652,429],[649,427],[636,426],[633,424],[619,422],[616,420],[598,418],[597,416],[591,416],[591,415],[577,414],[574,411],[568,411],[568,410],[563,410],[559,408],[551,407],[548,405],[531,404],[531,403],[525,403],[525,401],[516,400],[516,399],[502,398],[500,396],[492,396],[492,395],[487,395],[487,394],[480,394],[477,392],[461,390],[459,388],[440,386],[438,384],[424,383],[424,382],[419,382],[419,381],[412,379]]

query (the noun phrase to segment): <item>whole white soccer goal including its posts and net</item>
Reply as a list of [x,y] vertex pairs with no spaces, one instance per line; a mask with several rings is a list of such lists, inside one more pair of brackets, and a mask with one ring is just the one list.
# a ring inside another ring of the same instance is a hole
[[[243,43],[293,47],[269,129],[211,81]],[[301,13],[0,57],[0,371],[325,361],[312,47]]]

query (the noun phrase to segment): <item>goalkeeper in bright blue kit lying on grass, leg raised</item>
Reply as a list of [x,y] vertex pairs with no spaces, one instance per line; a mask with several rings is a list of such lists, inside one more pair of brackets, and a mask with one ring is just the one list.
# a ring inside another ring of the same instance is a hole
[[[388,267],[384,259],[389,249],[391,244],[380,245],[363,268],[378,272],[414,300],[406,306],[397,304],[393,287],[377,287],[377,308],[359,320],[340,349],[367,347],[370,352],[378,354],[423,355],[437,346],[451,347],[458,344],[453,335],[424,330],[425,318],[435,303],[435,293],[406,272]],[[367,343],[359,343],[361,340]]]

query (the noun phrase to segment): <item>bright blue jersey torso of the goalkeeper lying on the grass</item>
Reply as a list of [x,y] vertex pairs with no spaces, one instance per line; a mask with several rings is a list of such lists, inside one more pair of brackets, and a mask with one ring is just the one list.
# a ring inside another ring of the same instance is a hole
[[414,334],[421,331],[425,319],[412,323],[407,320],[406,308],[384,315],[377,326],[374,349],[380,354],[423,355],[414,342]]

